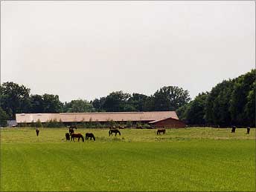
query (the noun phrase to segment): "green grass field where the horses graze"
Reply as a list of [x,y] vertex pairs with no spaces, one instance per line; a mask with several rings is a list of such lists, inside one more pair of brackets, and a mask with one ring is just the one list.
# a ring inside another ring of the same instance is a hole
[[1,129],[0,191],[255,191],[255,129]]

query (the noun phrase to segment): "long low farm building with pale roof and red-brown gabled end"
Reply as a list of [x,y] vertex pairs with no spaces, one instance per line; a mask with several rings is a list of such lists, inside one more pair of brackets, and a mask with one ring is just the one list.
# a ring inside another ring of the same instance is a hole
[[180,121],[175,111],[154,112],[104,112],[104,113],[17,113],[16,122],[31,123],[40,121],[42,123],[50,120],[63,122],[65,125],[80,122],[106,122],[114,121],[126,124],[128,121],[135,125],[137,122],[148,124],[152,127],[184,128],[185,123]]

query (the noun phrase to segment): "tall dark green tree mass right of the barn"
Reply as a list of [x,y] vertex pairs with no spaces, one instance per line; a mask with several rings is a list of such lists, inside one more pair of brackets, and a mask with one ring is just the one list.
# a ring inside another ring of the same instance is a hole
[[256,70],[223,80],[176,112],[188,125],[255,127]]

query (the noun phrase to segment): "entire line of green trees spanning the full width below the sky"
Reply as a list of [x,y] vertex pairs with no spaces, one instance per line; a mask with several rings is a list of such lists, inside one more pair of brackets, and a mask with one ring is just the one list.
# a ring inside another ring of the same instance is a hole
[[188,125],[243,125],[255,127],[256,70],[235,79],[223,80],[210,92],[191,100],[188,90],[164,86],[151,96],[141,93],[109,93],[92,101],[74,99],[60,102],[53,94],[31,94],[24,85],[4,82],[0,85],[0,125],[15,119],[16,113],[83,113],[176,110]]

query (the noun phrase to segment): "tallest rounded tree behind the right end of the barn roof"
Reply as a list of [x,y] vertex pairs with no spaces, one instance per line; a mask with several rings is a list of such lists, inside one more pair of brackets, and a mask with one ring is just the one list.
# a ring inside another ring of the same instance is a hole
[[161,87],[153,95],[154,110],[177,110],[190,100],[188,90],[176,86]]

